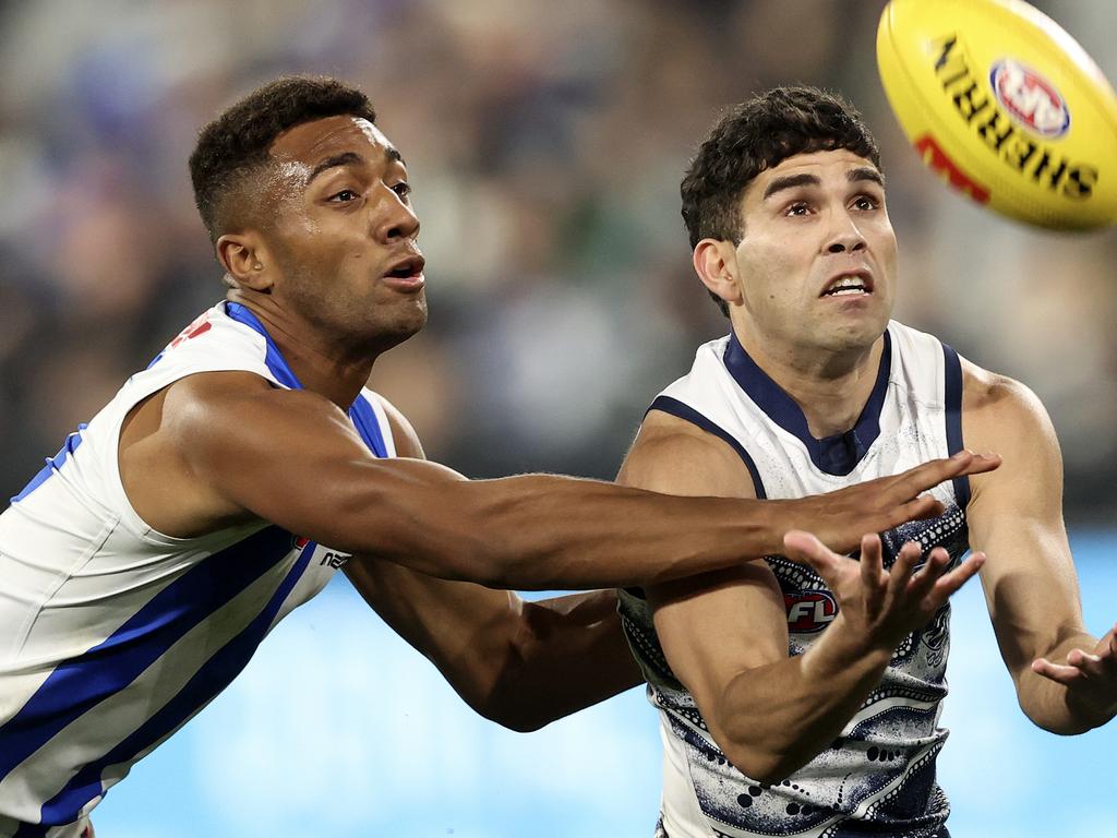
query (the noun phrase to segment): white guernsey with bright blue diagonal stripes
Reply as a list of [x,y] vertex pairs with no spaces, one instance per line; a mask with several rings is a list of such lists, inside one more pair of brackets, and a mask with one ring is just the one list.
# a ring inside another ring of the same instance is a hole
[[[173,539],[128,503],[117,468],[125,415],[185,375],[221,370],[300,387],[259,321],[221,303],[130,378],[0,515],[0,838],[79,835],[108,788],[221,692],[341,563],[337,551],[264,523]],[[349,415],[378,457],[394,456],[375,393],[363,391]]]

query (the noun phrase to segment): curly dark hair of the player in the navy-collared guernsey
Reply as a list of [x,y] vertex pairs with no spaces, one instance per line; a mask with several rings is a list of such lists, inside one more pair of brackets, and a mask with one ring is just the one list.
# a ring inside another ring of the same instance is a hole
[[[682,220],[694,249],[705,238],[739,245],[741,198],[765,169],[795,154],[849,149],[880,168],[880,152],[861,114],[818,87],[775,87],[726,111],[682,178]],[[728,316],[724,299],[710,296]]]

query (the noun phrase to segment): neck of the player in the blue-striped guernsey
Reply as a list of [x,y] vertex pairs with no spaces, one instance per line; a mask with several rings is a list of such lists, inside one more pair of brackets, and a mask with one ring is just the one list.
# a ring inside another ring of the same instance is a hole
[[303,389],[349,410],[367,383],[372,365],[382,350],[367,346],[354,350],[352,345],[331,341],[313,324],[275,305],[268,297],[246,298],[233,291],[228,299],[256,315]]

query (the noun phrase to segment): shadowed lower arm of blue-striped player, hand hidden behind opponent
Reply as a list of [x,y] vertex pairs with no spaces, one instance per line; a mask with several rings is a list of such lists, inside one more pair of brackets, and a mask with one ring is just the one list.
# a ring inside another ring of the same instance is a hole
[[[422,459],[410,423],[385,407],[399,454]],[[641,680],[612,591],[526,602],[372,556],[355,556],[345,573],[469,706],[506,727],[536,730]]]

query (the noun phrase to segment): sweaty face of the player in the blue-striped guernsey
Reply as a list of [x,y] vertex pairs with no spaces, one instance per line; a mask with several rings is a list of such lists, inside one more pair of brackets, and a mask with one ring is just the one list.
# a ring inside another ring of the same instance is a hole
[[384,349],[419,331],[427,320],[419,219],[388,137],[366,120],[331,116],[279,135],[271,156],[273,293],[345,341]]

